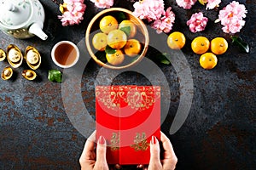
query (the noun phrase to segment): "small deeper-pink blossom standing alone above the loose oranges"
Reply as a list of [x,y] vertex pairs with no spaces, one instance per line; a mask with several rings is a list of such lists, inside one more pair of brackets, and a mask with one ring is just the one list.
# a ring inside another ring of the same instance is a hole
[[207,21],[207,17],[204,17],[201,12],[195,13],[187,21],[187,26],[189,26],[189,30],[192,32],[203,31],[207,26]]

